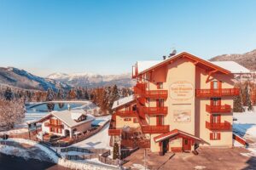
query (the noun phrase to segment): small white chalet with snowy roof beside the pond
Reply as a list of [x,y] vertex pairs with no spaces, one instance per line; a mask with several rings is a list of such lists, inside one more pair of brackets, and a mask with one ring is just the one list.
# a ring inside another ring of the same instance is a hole
[[88,116],[83,110],[51,111],[37,122],[42,123],[43,133],[69,136],[84,133],[91,128],[95,118]]

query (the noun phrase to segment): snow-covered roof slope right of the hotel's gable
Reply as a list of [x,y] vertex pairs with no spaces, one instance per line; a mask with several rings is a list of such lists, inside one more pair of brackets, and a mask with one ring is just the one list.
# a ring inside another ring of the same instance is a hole
[[239,65],[235,61],[211,61],[213,65],[218,65],[233,74],[236,73],[250,73],[250,71],[242,65]]

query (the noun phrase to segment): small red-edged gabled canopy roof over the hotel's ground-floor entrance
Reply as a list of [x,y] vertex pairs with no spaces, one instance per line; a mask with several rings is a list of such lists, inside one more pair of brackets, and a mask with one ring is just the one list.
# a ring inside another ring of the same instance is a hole
[[201,141],[201,139],[195,137],[192,134],[185,133],[183,131],[174,129],[169,133],[163,133],[163,134],[160,134],[159,136],[154,137],[154,142],[161,142],[165,139],[172,139],[172,138],[175,138],[175,137],[179,137],[179,138],[184,137],[184,138],[188,138],[188,139],[192,139],[192,140]]

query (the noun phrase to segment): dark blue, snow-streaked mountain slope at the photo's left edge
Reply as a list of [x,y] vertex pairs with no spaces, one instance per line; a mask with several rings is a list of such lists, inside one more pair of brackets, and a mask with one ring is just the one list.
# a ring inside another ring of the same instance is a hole
[[27,71],[14,67],[0,67],[0,84],[35,90],[47,90],[48,88],[52,88],[54,91],[57,91],[58,88],[70,88],[66,83],[54,79],[37,77]]

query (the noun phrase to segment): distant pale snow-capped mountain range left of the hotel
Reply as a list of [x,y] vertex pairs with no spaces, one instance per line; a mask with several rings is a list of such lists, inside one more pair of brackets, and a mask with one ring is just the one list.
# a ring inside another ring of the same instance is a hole
[[67,83],[73,87],[88,87],[96,88],[102,86],[111,86],[116,84],[119,87],[130,88],[134,81],[131,81],[131,73],[119,74],[119,75],[100,75],[88,72],[83,73],[53,73],[47,78],[54,79],[56,81]]

